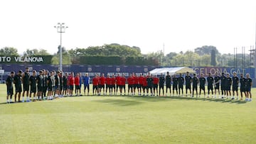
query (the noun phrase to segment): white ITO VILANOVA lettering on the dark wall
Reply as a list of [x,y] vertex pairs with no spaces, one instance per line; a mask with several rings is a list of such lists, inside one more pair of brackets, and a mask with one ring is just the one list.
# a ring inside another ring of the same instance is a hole
[[[14,57],[15,62],[43,62],[43,57]],[[0,57],[0,62],[11,62],[11,57]]]

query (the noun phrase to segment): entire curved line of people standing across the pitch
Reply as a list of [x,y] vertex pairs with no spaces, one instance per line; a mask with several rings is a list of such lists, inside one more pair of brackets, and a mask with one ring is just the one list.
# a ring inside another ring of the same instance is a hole
[[[21,101],[21,82],[23,83],[23,100],[24,101],[24,94],[26,92],[27,100],[31,101],[31,94],[33,94],[33,100],[37,99],[46,99],[46,92],[48,99],[53,99],[53,96],[63,96],[63,95],[69,95],[73,96],[73,89],[75,85],[75,94],[81,95],[81,86],[82,81],[84,84],[84,94],[85,90],[87,89],[87,95],[89,95],[90,92],[90,77],[88,77],[88,74],[85,74],[85,77],[80,77],[80,73],[76,74],[76,77],[74,77],[73,72],[70,74],[65,73],[65,75],[62,75],[62,72],[58,71],[57,73],[55,71],[50,72],[50,75],[48,75],[48,70],[41,70],[39,71],[39,74],[36,75],[36,71],[33,70],[32,75],[29,75],[29,69],[26,68],[26,72],[22,72],[21,70],[18,71],[18,74],[14,76],[14,72],[11,72],[10,76],[6,79],[7,84],[7,101],[8,97],[11,98],[13,94],[13,88],[12,88],[12,82],[14,82],[14,85],[16,87],[16,94],[15,94],[15,101],[16,96],[18,95],[18,101]],[[196,96],[198,95],[197,92],[197,85],[199,83],[200,85],[200,92],[199,95],[201,95],[201,90],[204,92],[204,96],[206,96],[205,93],[205,84],[206,79],[203,77],[203,74],[201,74],[201,77],[198,79],[196,77],[196,74],[193,74],[194,77],[192,78],[189,73],[187,72],[185,77],[186,82],[186,96],[188,95],[188,91],[191,94],[191,83],[193,84],[193,92],[196,91]],[[230,86],[233,85],[233,97],[235,92],[237,94],[238,99],[238,83],[240,82],[240,91],[241,91],[241,99],[242,99],[242,93],[245,93],[246,100],[251,101],[251,93],[250,93],[250,87],[252,85],[252,79],[250,79],[249,74],[247,74],[246,79],[242,76],[240,79],[236,76],[236,73],[233,73],[234,77],[231,79],[229,77],[229,74],[227,74],[227,77],[225,77],[225,74],[223,73],[221,77],[218,76],[218,73],[216,73],[215,77],[211,77],[210,74],[207,77],[208,82],[208,96],[210,94],[210,90],[212,91],[212,97],[213,97],[213,85],[215,87],[215,97],[216,92],[220,95],[220,84],[221,84],[221,91],[222,94],[220,97],[222,98],[228,98],[228,96],[231,96],[230,94]],[[13,79],[13,80],[11,80]],[[176,90],[176,94],[178,96],[183,96],[183,84],[184,84],[184,78],[182,77],[182,74],[180,74],[180,77],[176,77],[174,75],[172,78],[169,75],[169,72],[167,72],[166,77],[161,74],[160,77],[152,76],[152,74],[148,75],[142,75],[140,74],[139,77],[137,77],[136,74],[130,74],[129,77],[126,79],[124,77],[124,74],[120,76],[117,74],[117,77],[114,77],[114,74],[112,77],[108,74],[107,77],[102,74],[102,77],[99,77],[97,74],[92,79],[92,85],[93,85],[93,94],[100,95],[102,90],[103,94],[107,94],[107,90],[109,89],[109,94],[117,94],[117,91],[119,89],[119,94],[122,95],[122,90],[124,90],[125,95],[125,84],[128,82],[128,94],[134,95],[136,92],[136,89],[138,90],[138,94],[142,95],[149,95],[149,91],[151,93],[151,96],[160,96],[161,89],[162,94],[164,96],[164,84],[166,84],[166,94],[167,90],[169,89],[170,95],[171,95],[171,82],[173,82],[173,95]],[[28,91],[30,87],[30,94],[28,97]],[[159,93],[158,93],[158,87],[159,87]],[[106,89],[105,89],[106,88]],[[114,89],[114,91],[113,91]],[[37,91],[37,93],[36,93]],[[191,96],[194,94],[192,93]],[[249,98],[250,96],[250,98]],[[9,100],[11,101],[11,99]]]

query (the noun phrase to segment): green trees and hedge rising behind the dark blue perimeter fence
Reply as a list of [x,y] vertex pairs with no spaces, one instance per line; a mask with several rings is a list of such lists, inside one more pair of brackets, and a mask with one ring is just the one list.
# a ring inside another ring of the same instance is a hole
[[[119,45],[90,46],[88,48],[75,48],[63,51],[63,65],[84,64],[84,65],[154,65],[154,66],[186,66],[186,67],[252,67],[252,56],[238,53],[221,54],[212,45],[205,45],[195,48],[193,51],[170,52],[164,55],[159,50],[148,54],[142,54],[139,47]],[[59,64],[59,52],[52,55],[50,64]],[[0,55],[15,55],[23,57],[50,55],[44,49],[27,49],[19,55],[16,48],[5,47],[0,49]],[[234,57],[235,56],[235,57]]]

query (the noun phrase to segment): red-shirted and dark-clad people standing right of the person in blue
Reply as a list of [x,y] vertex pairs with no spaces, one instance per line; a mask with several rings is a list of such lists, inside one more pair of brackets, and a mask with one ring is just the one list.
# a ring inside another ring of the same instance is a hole
[[[207,80],[207,81],[206,81]],[[168,93],[168,89],[171,95],[171,82],[173,83],[173,95],[176,91],[176,94],[178,96],[183,96],[183,84],[186,85],[186,96],[188,96],[188,92],[190,92],[191,96],[194,96],[194,92],[196,91],[196,96],[198,96],[198,84],[199,84],[199,96],[201,96],[201,91],[203,91],[204,97],[206,97],[206,82],[208,86],[208,96],[211,96],[212,98],[217,97],[217,93],[219,98],[222,99],[238,99],[238,86],[240,83],[240,96],[242,100],[243,94],[245,94],[245,100],[251,101],[252,100],[252,94],[250,92],[250,89],[252,87],[252,79],[250,78],[250,74],[246,74],[246,77],[243,77],[243,74],[240,74],[240,78],[237,76],[236,72],[233,72],[233,77],[230,77],[230,74],[222,73],[221,77],[219,76],[218,72],[215,73],[215,76],[212,77],[211,74],[208,74],[208,77],[203,77],[203,74],[201,74],[201,77],[196,77],[196,74],[193,74],[193,77],[189,75],[189,73],[186,73],[185,79],[182,77],[182,74],[180,74],[179,77],[176,77],[174,75],[171,77],[169,75],[169,72],[167,72],[166,77],[164,77],[163,74],[161,74],[160,77],[152,76],[152,74],[149,75],[140,75],[137,77],[136,74],[130,74],[129,77],[126,79],[124,77],[124,74],[122,77],[117,75],[117,77],[110,77],[110,75],[107,75],[107,78],[104,77],[104,74],[102,74],[102,77],[99,77],[97,74],[95,74],[95,77],[92,79],[93,84],[93,94],[101,94],[101,89],[103,89],[103,94],[107,94],[107,89],[110,89],[110,95],[112,94],[112,89],[114,89],[114,94],[117,94],[117,89],[119,88],[120,95],[122,95],[122,90],[124,90],[125,95],[125,83],[128,83],[128,94],[134,95],[136,92],[136,89],[138,90],[138,94],[141,95],[142,91],[143,94],[149,95],[149,90],[151,92],[151,96],[160,96],[161,89],[163,96]],[[106,91],[105,91],[105,84],[106,84]],[[164,94],[164,84],[166,84],[166,94]],[[192,92],[191,92],[191,84],[192,84]],[[115,86],[116,85],[116,86]],[[233,95],[231,95],[231,86]],[[159,93],[158,93],[158,87],[159,87]],[[213,94],[213,89],[215,90]],[[220,94],[221,89],[221,94]],[[236,93],[236,94],[235,94]]]

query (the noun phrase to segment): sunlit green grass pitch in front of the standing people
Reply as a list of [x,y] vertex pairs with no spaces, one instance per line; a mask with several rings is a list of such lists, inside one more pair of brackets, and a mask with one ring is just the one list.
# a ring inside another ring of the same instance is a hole
[[0,143],[255,143],[252,101],[78,96],[4,104]]

